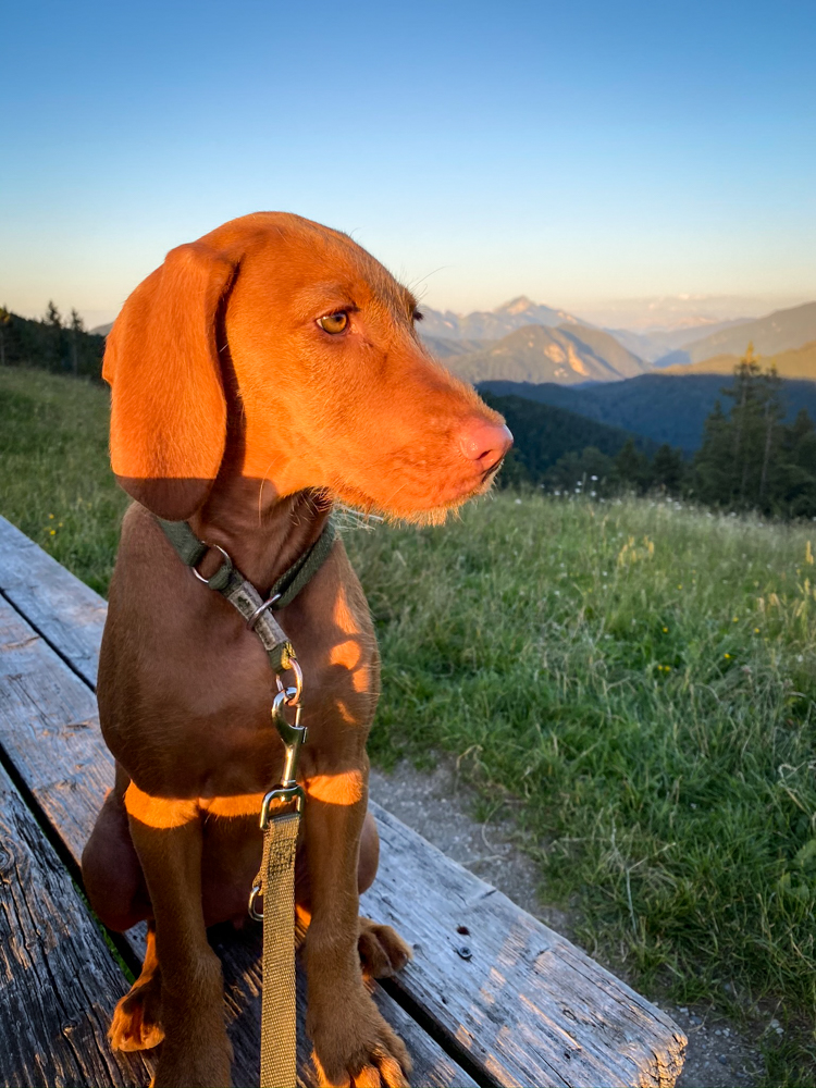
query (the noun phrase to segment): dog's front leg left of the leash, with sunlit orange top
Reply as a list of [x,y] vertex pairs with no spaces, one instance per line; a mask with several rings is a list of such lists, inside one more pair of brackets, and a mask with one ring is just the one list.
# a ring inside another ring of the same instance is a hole
[[201,908],[202,829],[189,801],[125,794],[131,836],[145,873],[161,966],[164,1043],[156,1088],[212,1088],[231,1081],[221,963]]

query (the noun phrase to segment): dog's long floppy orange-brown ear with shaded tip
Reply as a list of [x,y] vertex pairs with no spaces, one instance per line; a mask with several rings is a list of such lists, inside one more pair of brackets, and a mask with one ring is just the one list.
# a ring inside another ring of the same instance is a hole
[[224,455],[215,323],[236,267],[200,242],[172,249],[108,336],[113,471],[128,495],[171,521],[205,503]]

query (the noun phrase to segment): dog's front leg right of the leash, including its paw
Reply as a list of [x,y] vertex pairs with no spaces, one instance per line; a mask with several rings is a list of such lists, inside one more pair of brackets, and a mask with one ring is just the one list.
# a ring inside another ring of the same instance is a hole
[[358,953],[357,863],[366,818],[364,776],[320,776],[307,782],[307,789],[311,922],[304,957],[307,1030],[318,1073],[324,1085],[403,1088],[410,1059],[366,990]]

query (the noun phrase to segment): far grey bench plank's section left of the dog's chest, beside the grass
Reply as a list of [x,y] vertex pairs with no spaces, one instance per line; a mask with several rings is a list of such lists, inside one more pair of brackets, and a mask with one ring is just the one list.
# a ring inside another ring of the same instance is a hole
[[87,683],[96,684],[104,601],[2,517],[0,593]]

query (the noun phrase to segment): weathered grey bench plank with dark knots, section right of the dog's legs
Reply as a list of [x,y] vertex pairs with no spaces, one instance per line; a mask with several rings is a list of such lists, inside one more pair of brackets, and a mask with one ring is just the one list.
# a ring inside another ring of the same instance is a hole
[[685,1038],[665,1013],[384,808],[371,808],[386,864],[362,910],[415,950],[393,985],[432,1009],[498,1084],[673,1085]]

